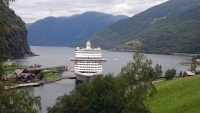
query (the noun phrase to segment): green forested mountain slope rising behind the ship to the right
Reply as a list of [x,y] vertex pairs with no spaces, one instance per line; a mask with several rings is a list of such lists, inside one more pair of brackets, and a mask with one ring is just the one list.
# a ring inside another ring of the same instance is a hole
[[117,21],[78,43],[147,53],[200,53],[200,0],[169,0]]

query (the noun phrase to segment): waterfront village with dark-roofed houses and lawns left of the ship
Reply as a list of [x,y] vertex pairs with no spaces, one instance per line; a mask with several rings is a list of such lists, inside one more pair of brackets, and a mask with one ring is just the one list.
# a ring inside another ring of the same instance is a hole
[[4,76],[2,81],[8,78],[13,78],[13,82],[20,83],[33,83],[33,82],[45,82],[45,79],[50,77],[60,78],[64,71],[67,71],[67,66],[58,66],[54,68],[40,68],[41,65],[34,66],[22,66],[10,63],[7,61],[4,65]]

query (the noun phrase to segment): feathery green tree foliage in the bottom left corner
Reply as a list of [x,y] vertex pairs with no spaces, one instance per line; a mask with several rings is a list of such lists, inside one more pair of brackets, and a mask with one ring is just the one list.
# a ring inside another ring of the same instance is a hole
[[0,113],[38,113],[40,96],[34,96],[34,88],[10,89],[0,84]]

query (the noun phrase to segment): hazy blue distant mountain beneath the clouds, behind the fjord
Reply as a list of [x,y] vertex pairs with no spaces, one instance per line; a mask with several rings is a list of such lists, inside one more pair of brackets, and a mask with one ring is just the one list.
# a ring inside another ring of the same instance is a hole
[[72,46],[127,16],[86,12],[71,17],[47,17],[28,27],[28,43],[34,46]]

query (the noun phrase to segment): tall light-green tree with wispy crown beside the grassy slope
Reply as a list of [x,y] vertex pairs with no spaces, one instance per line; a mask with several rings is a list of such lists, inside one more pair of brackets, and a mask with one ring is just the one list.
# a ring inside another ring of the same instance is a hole
[[153,74],[151,65],[152,61],[138,51],[133,55],[133,62],[122,68],[120,76],[127,85],[125,98],[127,102],[123,112],[150,112],[146,104],[147,97],[153,96],[156,92],[151,79]]

